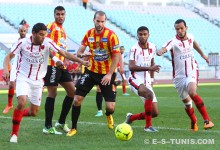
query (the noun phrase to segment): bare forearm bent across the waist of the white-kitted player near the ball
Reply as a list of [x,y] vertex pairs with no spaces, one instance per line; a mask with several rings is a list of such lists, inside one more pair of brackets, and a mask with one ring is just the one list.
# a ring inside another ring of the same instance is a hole
[[144,67],[144,66],[137,66],[136,62],[134,60],[129,60],[129,69],[130,71],[156,71],[159,72],[160,71],[160,65],[153,65],[150,67]]

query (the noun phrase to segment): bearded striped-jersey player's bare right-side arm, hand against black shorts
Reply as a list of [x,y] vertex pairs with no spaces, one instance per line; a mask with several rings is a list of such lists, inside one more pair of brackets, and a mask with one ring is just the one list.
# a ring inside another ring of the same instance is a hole
[[114,73],[120,59],[120,53],[113,54],[112,64],[110,66],[109,72],[102,78],[102,85],[109,85],[111,81],[112,74]]

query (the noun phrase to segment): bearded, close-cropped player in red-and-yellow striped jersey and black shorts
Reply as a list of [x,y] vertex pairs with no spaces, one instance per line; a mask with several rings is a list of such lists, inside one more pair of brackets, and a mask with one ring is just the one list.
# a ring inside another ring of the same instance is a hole
[[72,129],[67,136],[73,136],[77,132],[77,122],[80,115],[81,103],[94,85],[99,85],[106,101],[106,117],[108,127],[114,128],[112,114],[115,108],[115,70],[120,59],[119,40],[117,35],[105,27],[106,14],[97,11],[93,18],[94,28],[88,30],[77,51],[77,56],[83,55],[86,47],[92,55],[91,63],[85,68],[84,74],[76,84],[76,93],[72,106]]

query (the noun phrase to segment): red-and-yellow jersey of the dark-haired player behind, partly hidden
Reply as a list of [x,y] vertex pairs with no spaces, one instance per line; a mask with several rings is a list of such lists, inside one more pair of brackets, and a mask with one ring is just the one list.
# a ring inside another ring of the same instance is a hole
[[[65,33],[62,25],[57,24],[56,22],[49,23],[47,25],[47,37],[52,39],[62,50],[67,50],[67,35]],[[64,57],[59,54],[52,52],[53,55],[56,55],[60,60],[64,61]],[[55,66],[55,62],[49,58],[49,66]]]

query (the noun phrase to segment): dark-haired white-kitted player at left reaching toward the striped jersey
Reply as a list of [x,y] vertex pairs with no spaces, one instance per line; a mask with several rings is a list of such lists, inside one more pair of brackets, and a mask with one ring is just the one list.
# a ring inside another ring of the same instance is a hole
[[14,110],[12,118],[12,136],[10,142],[17,143],[18,130],[23,117],[26,98],[30,100],[29,113],[36,116],[41,104],[43,77],[46,75],[47,63],[50,50],[59,53],[65,58],[82,63],[88,66],[87,61],[83,61],[76,56],[63,51],[51,39],[45,37],[47,28],[43,23],[33,26],[32,36],[19,40],[12,47],[8,57],[4,60],[4,80],[8,80],[8,64],[14,55],[18,55],[18,68],[16,78],[16,96],[18,105]]

